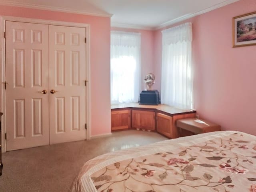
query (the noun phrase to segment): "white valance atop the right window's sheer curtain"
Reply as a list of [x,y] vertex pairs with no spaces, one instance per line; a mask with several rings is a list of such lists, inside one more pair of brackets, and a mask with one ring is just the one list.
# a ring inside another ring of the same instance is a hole
[[164,44],[176,44],[177,42],[192,41],[192,23],[185,23],[162,31]]

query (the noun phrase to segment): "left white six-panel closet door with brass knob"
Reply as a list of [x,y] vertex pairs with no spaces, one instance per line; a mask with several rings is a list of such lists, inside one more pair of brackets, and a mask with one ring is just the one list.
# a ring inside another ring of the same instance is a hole
[[7,150],[49,144],[48,25],[6,21]]

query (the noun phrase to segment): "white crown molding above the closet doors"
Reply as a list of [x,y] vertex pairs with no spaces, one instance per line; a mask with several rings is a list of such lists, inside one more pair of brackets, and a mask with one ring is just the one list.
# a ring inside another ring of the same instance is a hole
[[108,13],[92,13],[92,12],[87,12],[87,11],[83,11],[83,10],[74,10],[74,9],[61,8],[61,7],[52,7],[52,6],[45,6],[45,5],[38,5],[38,4],[15,2],[15,1],[10,1],[10,0],[1,1],[0,5],[34,8],[34,9],[50,10],[50,11],[59,11],[59,12],[66,12],[66,13],[99,16],[99,17],[112,17],[112,14],[108,14]]

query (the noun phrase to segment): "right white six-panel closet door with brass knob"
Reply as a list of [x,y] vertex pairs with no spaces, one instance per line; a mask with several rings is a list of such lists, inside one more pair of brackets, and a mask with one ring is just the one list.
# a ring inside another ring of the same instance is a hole
[[86,139],[85,28],[49,26],[50,144]]

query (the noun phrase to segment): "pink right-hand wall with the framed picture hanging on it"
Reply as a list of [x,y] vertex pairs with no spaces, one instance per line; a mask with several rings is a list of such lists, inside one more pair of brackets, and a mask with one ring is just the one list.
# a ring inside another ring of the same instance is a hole
[[[200,118],[220,124],[223,130],[254,135],[256,46],[232,48],[232,18],[255,8],[255,0],[241,0],[184,21],[193,24],[194,101]],[[154,42],[157,78],[161,74],[161,30],[155,32]]]

